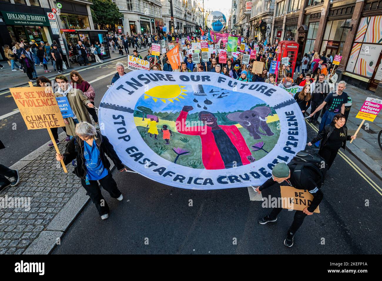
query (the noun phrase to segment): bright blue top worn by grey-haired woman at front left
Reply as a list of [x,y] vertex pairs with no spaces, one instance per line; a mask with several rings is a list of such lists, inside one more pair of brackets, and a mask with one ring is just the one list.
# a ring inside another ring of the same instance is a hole
[[93,140],[92,146],[84,141],[84,158],[88,180],[100,180],[107,176],[108,171],[104,168],[104,164],[102,164],[95,140]]

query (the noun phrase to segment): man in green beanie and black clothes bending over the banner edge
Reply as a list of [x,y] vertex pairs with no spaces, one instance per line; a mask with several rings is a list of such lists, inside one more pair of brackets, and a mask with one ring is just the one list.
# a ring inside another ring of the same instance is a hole
[[[256,188],[256,191],[260,193],[265,188],[268,188],[277,182],[279,186],[289,185],[291,187],[308,190],[313,195],[312,203],[309,207],[306,207],[303,211],[296,210],[295,217],[292,225],[289,227],[284,240],[286,247],[292,247],[293,237],[296,231],[303,224],[304,218],[313,214],[317,206],[320,204],[324,194],[321,192],[320,175],[316,171],[309,167],[303,167],[301,171],[295,171],[296,164],[278,163],[272,170],[272,177],[268,179],[264,184]],[[298,180],[299,175],[299,180]],[[269,222],[277,221],[277,215],[281,212],[281,206],[273,208],[272,212],[268,216],[259,218],[260,224],[266,224]]]

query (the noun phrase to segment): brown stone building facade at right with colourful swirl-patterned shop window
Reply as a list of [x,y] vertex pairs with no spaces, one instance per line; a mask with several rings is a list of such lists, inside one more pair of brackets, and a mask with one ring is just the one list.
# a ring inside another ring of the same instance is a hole
[[382,0],[276,0],[272,42],[341,55],[339,78],[382,96]]

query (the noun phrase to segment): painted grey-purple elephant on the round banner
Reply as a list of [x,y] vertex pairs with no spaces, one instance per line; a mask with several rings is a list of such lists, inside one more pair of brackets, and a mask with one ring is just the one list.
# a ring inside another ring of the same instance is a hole
[[[274,133],[270,130],[267,124],[267,117],[271,114],[271,110],[267,106],[255,107],[252,110],[245,110],[244,112],[234,112],[227,115],[227,118],[231,121],[238,122],[241,126],[246,128],[249,135],[254,140],[261,139],[260,135],[273,136]],[[273,114],[271,114],[273,115]],[[262,129],[265,133],[262,133],[259,129]]]

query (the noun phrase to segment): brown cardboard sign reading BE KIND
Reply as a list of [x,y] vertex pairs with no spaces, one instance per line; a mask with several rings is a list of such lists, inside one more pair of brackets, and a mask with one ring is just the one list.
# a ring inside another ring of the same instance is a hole
[[[282,208],[302,211],[309,207],[313,201],[313,195],[308,191],[297,189],[291,186],[280,186]],[[320,213],[320,206],[317,206],[313,213]]]

